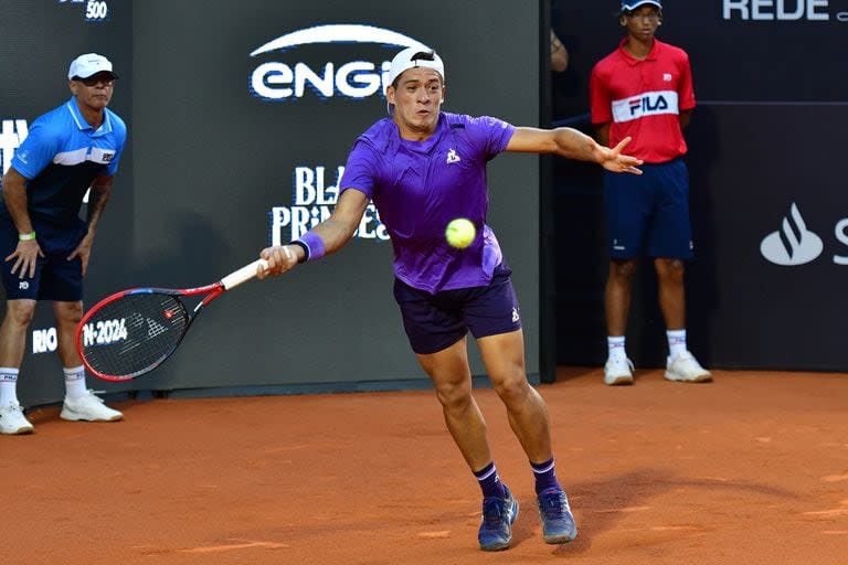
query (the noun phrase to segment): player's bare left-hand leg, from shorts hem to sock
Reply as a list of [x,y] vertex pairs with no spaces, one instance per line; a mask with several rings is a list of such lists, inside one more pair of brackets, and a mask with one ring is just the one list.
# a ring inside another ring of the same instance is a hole
[[491,461],[491,451],[486,438],[486,420],[471,395],[466,338],[442,351],[416,354],[416,358],[433,382],[447,429],[468,467],[473,471],[483,469]]

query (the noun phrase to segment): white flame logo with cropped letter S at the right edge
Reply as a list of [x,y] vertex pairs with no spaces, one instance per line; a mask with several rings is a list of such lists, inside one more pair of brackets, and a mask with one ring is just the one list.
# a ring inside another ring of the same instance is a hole
[[[848,245],[848,217],[836,223],[834,235],[839,243]],[[807,224],[794,202],[789,207],[789,215],[783,218],[781,228],[766,235],[760,244],[763,257],[775,265],[788,267],[815,260],[824,248],[822,237],[807,230]],[[848,256],[834,255],[833,259],[836,265],[848,265]]]

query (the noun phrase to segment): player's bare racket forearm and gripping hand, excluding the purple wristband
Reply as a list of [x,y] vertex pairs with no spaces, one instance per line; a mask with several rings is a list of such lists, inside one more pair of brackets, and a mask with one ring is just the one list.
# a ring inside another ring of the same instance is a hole
[[[330,217],[309,230],[312,236],[320,238],[325,254],[339,250],[353,237],[365,213],[365,207],[368,207],[368,196],[364,193],[356,189],[341,193]],[[266,247],[259,252],[259,257],[268,262],[268,266],[264,270],[259,268],[256,277],[282,275],[293,269],[304,256],[305,252],[299,245]]]

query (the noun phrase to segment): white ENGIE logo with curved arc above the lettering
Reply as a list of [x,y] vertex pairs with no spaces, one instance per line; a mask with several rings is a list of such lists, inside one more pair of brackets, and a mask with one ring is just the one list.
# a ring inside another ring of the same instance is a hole
[[[384,46],[430,47],[401,33],[374,28],[372,25],[331,24],[307,28],[287,33],[256,49],[252,57],[273,51],[286,52],[301,45],[339,45],[339,58],[328,61],[320,66],[307,65],[292,56],[288,61],[268,61],[259,64],[251,74],[250,92],[252,96],[268,102],[284,102],[301,98],[306,87],[321,99],[333,96],[362,99],[373,95],[382,96],[391,61],[360,61],[350,54],[349,44],[372,43]],[[343,45],[343,46],[342,46]],[[392,53],[392,56],[394,52]]]

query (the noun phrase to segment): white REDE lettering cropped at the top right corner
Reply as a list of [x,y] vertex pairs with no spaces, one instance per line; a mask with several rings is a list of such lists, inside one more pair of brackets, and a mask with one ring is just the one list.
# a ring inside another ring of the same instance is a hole
[[831,12],[830,0],[722,0],[724,20],[848,22],[848,12]]

